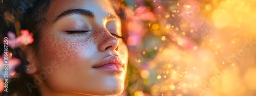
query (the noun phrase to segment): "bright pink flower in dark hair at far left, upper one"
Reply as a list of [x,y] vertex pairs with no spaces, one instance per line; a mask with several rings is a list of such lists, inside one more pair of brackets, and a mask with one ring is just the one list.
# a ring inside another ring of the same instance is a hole
[[12,32],[8,32],[8,46],[14,48],[17,46],[23,46],[33,43],[33,33],[29,33],[28,30],[21,30],[20,36],[16,38],[15,34]]

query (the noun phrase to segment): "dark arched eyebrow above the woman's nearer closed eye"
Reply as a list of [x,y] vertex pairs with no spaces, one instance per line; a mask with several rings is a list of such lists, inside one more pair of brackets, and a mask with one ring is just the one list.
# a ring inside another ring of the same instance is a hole
[[56,22],[58,19],[68,16],[68,15],[72,15],[72,14],[86,15],[90,18],[94,18],[94,13],[88,9],[71,9],[71,10],[67,10],[67,11],[64,11],[63,13],[59,14],[55,18],[55,20],[53,20],[53,22]]

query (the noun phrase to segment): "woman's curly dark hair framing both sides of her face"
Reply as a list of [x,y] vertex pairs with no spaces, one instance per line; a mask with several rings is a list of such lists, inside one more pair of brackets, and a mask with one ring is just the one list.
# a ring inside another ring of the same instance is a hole
[[[14,16],[15,21],[19,21],[20,29],[26,29],[33,33],[34,42],[28,46],[33,47],[33,51],[38,53],[40,40],[40,33],[42,28],[47,24],[47,20],[44,18],[44,14],[48,11],[51,1],[50,0],[2,0],[0,1],[0,38],[7,37],[9,31],[16,34],[15,23],[9,21],[4,16],[5,12],[9,12]],[[121,1],[116,0],[113,5],[116,13],[122,20],[122,25],[125,25],[124,21],[127,21],[127,15],[125,8],[120,6]],[[118,5],[118,6],[117,6]],[[123,36],[126,29],[122,26]],[[126,41],[126,40],[124,40]],[[1,54],[4,53],[4,44],[1,42]],[[17,77],[10,79],[8,82],[8,92],[3,91],[0,95],[40,95],[38,88],[29,89],[28,84],[34,84],[33,77],[26,73],[26,56],[20,48],[8,49],[13,54],[13,57],[18,58],[22,63],[15,68]]]

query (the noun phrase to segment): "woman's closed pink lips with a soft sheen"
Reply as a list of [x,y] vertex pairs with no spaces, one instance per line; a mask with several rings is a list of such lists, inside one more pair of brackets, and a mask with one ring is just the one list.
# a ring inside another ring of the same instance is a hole
[[100,63],[93,66],[95,69],[101,69],[101,70],[109,70],[109,71],[116,71],[121,72],[123,71],[123,62],[120,57],[118,56],[110,56],[102,61]]

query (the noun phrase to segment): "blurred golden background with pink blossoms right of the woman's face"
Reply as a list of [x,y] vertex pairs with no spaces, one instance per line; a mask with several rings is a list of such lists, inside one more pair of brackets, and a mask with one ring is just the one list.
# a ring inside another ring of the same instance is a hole
[[126,0],[121,95],[256,95],[256,0]]

